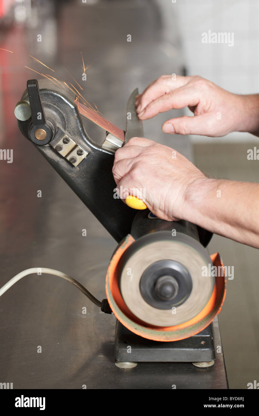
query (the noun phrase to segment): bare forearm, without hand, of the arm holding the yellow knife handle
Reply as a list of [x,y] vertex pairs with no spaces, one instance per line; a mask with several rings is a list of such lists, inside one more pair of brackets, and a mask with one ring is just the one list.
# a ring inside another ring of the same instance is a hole
[[184,219],[259,248],[259,184],[198,179],[186,193]]

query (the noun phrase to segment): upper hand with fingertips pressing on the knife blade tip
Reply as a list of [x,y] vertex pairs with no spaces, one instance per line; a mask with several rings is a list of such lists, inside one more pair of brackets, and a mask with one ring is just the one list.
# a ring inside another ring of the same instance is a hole
[[136,100],[138,117],[188,106],[193,116],[165,121],[164,133],[224,136],[232,131],[259,132],[259,94],[232,94],[199,76],[162,75]]

